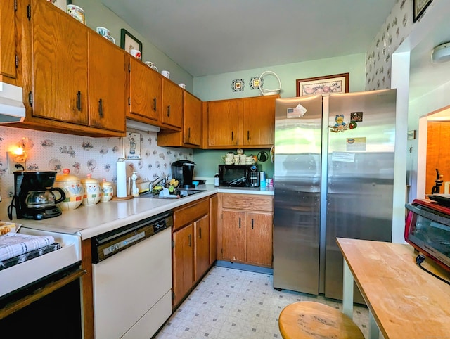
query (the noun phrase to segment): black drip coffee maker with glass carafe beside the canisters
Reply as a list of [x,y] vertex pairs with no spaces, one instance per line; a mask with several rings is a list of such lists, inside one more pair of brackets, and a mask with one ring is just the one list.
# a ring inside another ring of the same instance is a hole
[[[14,172],[14,196],[8,206],[8,217],[13,219],[13,207],[18,219],[46,219],[61,215],[56,205],[65,200],[65,193],[61,188],[52,187],[56,179],[56,172]],[[58,191],[56,198],[53,192]]]

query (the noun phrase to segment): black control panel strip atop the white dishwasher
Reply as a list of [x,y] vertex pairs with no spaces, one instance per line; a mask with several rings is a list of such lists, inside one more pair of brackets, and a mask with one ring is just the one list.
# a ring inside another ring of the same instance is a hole
[[173,224],[171,211],[96,236],[92,238],[92,262],[94,264],[101,262],[159,231],[172,227]]

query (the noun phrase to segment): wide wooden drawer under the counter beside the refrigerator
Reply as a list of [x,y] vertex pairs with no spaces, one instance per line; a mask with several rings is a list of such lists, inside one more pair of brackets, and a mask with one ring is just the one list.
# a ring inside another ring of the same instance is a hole
[[273,212],[274,198],[272,196],[257,196],[255,194],[224,193],[222,195],[222,208]]

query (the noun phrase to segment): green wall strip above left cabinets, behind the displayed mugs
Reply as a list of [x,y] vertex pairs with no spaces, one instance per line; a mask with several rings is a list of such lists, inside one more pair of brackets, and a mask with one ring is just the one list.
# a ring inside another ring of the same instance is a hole
[[143,61],[153,61],[160,72],[162,70],[169,70],[170,79],[173,82],[176,82],[176,84],[183,82],[186,84],[186,90],[193,93],[193,76],[172,59],[168,58],[157,46],[145,39],[139,32],[125,23],[124,20],[115,15],[113,11],[110,11],[108,7],[101,3],[101,0],[75,0],[72,1],[72,4],[83,8],[86,15],[86,24],[92,30],[96,30],[98,26],[108,28],[117,46],[120,46],[120,30],[124,28],[130,32],[136,39],[142,42]]

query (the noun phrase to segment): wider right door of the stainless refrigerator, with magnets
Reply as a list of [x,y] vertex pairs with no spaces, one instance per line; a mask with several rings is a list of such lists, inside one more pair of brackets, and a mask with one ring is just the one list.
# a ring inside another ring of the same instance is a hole
[[[335,94],[329,103],[325,295],[342,299],[336,237],[392,239],[396,91]],[[343,132],[333,132],[340,115]]]

